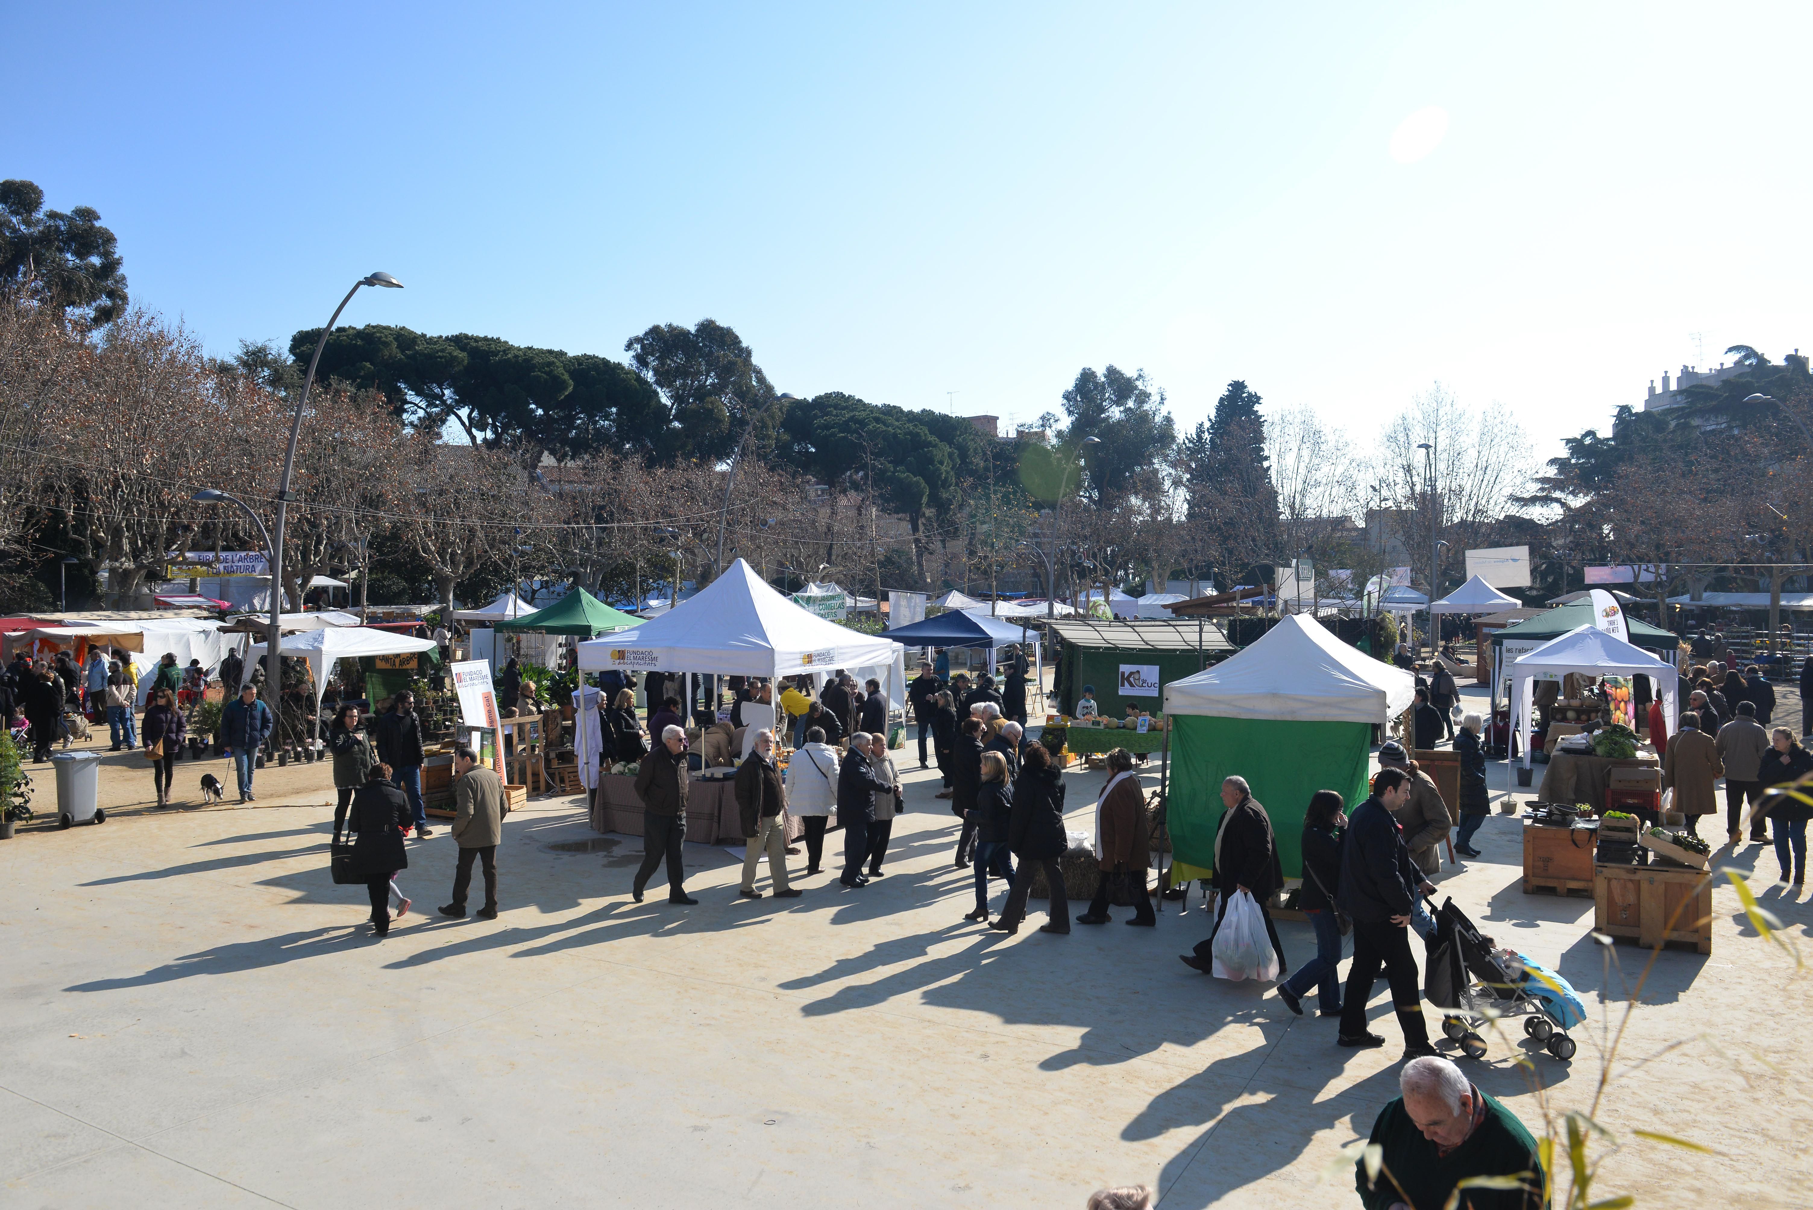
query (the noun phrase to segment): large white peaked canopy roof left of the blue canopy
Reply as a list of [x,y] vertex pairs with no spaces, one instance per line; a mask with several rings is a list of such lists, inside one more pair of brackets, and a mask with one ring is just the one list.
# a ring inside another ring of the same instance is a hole
[[[850,630],[792,603],[745,562],[640,627],[578,645],[584,672],[696,672],[705,676],[798,676],[821,679],[845,668],[883,681],[894,705],[906,701],[906,648]],[[885,668],[881,676],[877,668]]]

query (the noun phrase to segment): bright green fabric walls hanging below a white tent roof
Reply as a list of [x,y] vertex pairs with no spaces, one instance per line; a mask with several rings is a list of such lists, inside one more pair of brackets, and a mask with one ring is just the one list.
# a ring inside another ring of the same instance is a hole
[[1365,801],[1372,755],[1369,723],[1298,723],[1171,715],[1171,850],[1182,877],[1215,866],[1222,781],[1246,777],[1271,817],[1285,879],[1304,875],[1304,811],[1316,790],[1334,790],[1349,810]]

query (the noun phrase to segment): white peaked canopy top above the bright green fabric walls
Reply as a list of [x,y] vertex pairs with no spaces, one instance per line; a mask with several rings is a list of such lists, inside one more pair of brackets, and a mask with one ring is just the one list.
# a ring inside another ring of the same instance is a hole
[[1385,726],[1414,699],[1414,676],[1342,643],[1302,614],[1284,616],[1240,654],[1164,687],[1166,714],[1224,719]]

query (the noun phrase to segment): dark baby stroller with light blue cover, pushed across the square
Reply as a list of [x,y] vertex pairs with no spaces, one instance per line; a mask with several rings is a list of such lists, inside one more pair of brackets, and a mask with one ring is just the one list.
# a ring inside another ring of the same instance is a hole
[[[1467,1058],[1485,1058],[1478,1025],[1485,1009],[1496,1016],[1521,1016],[1523,1032],[1541,1042],[1557,1060],[1574,1058],[1568,1029],[1586,1020],[1586,1005],[1565,978],[1514,949],[1499,949],[1449,898],[1436,909],[1436,935],[1429,942],[1425,994],[1447,1009],[1441,1032],[1461,1043]],[[1546,980],[1546,982],[1545,982]]]

